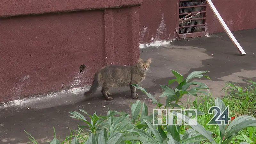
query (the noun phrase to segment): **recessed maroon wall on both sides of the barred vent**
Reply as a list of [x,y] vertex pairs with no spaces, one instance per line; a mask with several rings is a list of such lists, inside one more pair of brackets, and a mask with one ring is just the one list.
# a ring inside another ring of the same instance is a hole
[[[179,0],[143,0],[140,6],[140,43],[177,38],[176,13]],[[231,31],[256,28],[255,0],[212,0]],[[207,4],[206,33],[224,32]]]

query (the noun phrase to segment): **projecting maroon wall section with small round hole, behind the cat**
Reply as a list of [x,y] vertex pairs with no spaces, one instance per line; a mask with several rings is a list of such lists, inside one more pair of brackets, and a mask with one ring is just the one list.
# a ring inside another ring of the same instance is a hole
[[[138,60],[137,5],[141,1],[120,4],[112,0],[112,3],[108,1],[101,6],[112,9],[65,13],[52,12],[77,10],[77,5],[72,7],[72,3],[65,1],[69,5],[56,5],[56,9],[41,11],[34,7],[31,10],[27,6],[27,10],[19,7],[17,10],[12,7],[13,3],[8,5],[10,1],[1,1],[0,102],[86,86],[100,67],[106,64],[129,65]],[[24,3],[21,0],[16,2]],[[48,4],[46,0],[40,2],[42,7]],[[120,5],[131,7],[115,8]],[[9,9],[4,6],[9,6]],[[86,7],[79,8],[87,10]],[[50,13],[30,15],[45,12]],[[84,74],[79,73],[81,64],[87,66]]]

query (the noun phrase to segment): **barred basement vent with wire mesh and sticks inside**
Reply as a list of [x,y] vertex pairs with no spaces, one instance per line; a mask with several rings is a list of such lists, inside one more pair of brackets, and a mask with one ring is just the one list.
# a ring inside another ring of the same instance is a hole
[[176,32],[180,38],[204,35],[206,4],[206,0],[179,0]]

